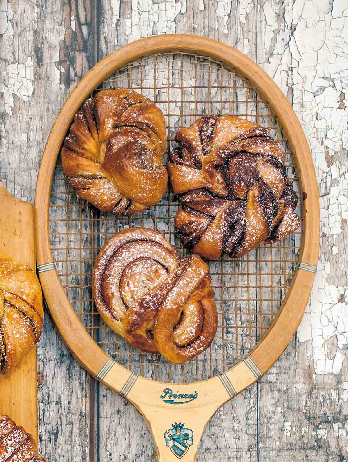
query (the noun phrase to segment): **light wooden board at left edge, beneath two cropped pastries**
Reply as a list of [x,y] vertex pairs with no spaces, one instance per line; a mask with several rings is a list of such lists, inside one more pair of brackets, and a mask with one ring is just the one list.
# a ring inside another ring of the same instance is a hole
[[[34,271],[34,206],[0,183],[0,253]],[[37,359],[34,347],[10,374],[0,374],[0,415],[8,414],[37,441]]]

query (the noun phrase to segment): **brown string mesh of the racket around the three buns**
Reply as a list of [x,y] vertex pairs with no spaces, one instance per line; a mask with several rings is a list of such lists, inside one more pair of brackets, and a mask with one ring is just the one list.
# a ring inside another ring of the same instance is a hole
[[[286,149],[287,174],[300,199],[296,212],[302,215],[302,192],[281,127],[268,104],[246,79],[221,62],[181,53],[153,55],[129,63],[96,91],[120,87],[133,88],[158,104],[165,116],[168,149],[175,147],[174,136],[179,128],[203,115],[228,113],[267,128]],[[185,256],[174,231],[174,216],[179,207],[169,189],[159,204],[133,217],[100,213],[67,187],[58,160],[51,194],[50,242],[74,310],[106,353],[144,377],[195,382],[229,369],[267,332],[291,286],[302,230],[279,243],[263,244],[241,259],[223,256],[208,262],[219,313],[217,334],[210,348],[199,357],[184,365],[173,365],[162,357],[140,352],[104,324],[92,300],[91,278],[99,250],[115,232],[127,227],[158,229]]]

